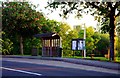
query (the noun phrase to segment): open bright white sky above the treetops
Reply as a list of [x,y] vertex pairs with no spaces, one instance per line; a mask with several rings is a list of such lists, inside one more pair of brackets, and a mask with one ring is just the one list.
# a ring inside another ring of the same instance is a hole
[[[6,1],[6,0],[0,0],[0,1]],[[39,4],[39,7],[37,8],[37,10],[41,9],[42,12],[44,13],[44,15],[46,17],[48,17],[49,19],[54,19],[59,22],[67,22],[71,27],[73,27],[74,25],[82,25],[84,23],[86,26],[96,27],[96,25],[97,25],[97,21],[94,21],[94,17],[91,16],[90,14],[83,15],[83,18],[80,18],[79,20],[77,18],[74,18],[74,15],[72,14],[72,15],[70,15],[70,17],[67,20],[65,20],[59,16],[60,11],[54,11],[53,13],[50,13],[50,11],[48,11],[47,9],[44,8],[47,6],[48,0],[27,0],[27,1],[30,1],[34,5]],[[47,13],[50,13],[50,14],[47,15]]]

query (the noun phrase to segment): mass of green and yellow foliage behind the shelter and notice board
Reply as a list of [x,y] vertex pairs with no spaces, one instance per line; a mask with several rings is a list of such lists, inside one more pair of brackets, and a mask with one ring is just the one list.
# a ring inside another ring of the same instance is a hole
[[[32,48],[37,48],[41,55],[41,40],[39,38],[34,38],[33,35],[38,33],[56,32],[62,39],[63,56],[82,56],[82,51],[71,50],[71,40],[83,38],[84,30],[81,26],[72,29],[66,23],[46,19],[42,13],[37,12],[33,8],[34,6],[27,2],[3,3],[2,31],[4,31],[5,34],[2,34],[2,39],[0,39],[0,43],[2,43],[2,48],[0,48],[0,50],[3,54],[30,55]],[[106,23],[108,25],[109,20],[107,20]],[[95,56],[104,56],[107,54],[110,43],[109,36],[109,34],[96,32],[93,27],[86,27],[87,56],[90,54],[95,54]],[[120,56],[120,46],[117,44],[119,43],[117,40],[120,41],[120,39],[116,38],[115,44],[117,45],[117,56]]]

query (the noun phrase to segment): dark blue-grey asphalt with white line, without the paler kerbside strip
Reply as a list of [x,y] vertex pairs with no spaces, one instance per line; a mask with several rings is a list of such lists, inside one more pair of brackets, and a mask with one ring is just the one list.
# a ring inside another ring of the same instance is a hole
[[[15,58],[14,58],[15,59]],[[20,59],[19,59],[20,60]],[[17,61],[9,61],[9,60],[2,60],[2,77],[46,77],[46,76],[73,76],[73,77],[83,77],[83,76],[112,76],[113,78],[119,78],[119,74],[115,73],[106,73],[99,71],[92,70],[84,70],[84,69],[77,69],[77,68],[68,68],[68,67],[60,67],[55,65],[46,65],[42,62],[39,64],[36,63],[28,63],[28,62],[18,62]],[[24,59],[22,59],[24,60]],[[35,59],[34,59],[35,60]],[[34,61],[29,60],[27,61]],[[49,61],[48,61],[49,63]],[[57,62],[54,62],[57,65]],[[65,64],[65,63],[64,63]],[[69,65],[69,64],[67,64]],[[75,65],[73,65],[75,66]],[[110,71],[109,71],[110,72]]]

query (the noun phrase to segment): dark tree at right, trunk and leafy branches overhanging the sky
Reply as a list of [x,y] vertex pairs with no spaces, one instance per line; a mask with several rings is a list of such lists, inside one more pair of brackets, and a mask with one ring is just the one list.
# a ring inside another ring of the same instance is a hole
[[[93,15],[100,15],[110,20],[109,25],[106,26],[110,34],[110,61],[114,60],[114,32],[115,32],[115,18],[120,14],[120,1],[119,2],[56,2],[49,3],[50,8],[56,9],[58,6],[62,8],[63,14],[67,15],[73,13],[81,16],[81,13],[92,13]],[[86,10],[89,9],[89,10]],[[94,10],[94,11],[93,11]],[[116,11],[118,13],[116,14]],[[105,29],[106,30],[106,29]]]

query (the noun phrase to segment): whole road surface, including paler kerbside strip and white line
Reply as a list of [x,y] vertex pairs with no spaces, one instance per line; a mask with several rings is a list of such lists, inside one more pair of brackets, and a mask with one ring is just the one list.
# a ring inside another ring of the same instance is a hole
[[118,70],[25,58],[3,58],[2,77],[46,77],[46,76],[114,76],[119,78]]

